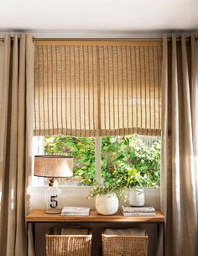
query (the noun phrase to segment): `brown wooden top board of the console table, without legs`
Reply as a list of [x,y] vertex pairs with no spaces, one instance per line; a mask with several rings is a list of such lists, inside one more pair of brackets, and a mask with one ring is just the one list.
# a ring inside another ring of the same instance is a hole
[[60,216],[60,214],[47,214],[44,209],[34,209],[26,216],[27,222],[164,222],[165,217],[160,211],[155,216],[122,216],[117,214],[100,215],[96,210],[91,210],[89,216]]

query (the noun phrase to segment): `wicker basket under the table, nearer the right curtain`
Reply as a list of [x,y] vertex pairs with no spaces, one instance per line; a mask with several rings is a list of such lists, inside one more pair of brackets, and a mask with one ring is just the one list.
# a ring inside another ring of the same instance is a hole
[[147,256],[148,236],[102,234],[103,256]]

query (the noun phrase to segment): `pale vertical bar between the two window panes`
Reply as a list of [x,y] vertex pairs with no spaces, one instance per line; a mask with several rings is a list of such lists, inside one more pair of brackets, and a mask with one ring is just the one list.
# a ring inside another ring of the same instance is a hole
[[102,146],[102,138],[96,137],[95,138],[95,156],[96,156],[96,169],[95,169],[95,178],[96,182],[102,184],[102,169],[101,169],[101,162],[102,162],[102,153],[101,147]]

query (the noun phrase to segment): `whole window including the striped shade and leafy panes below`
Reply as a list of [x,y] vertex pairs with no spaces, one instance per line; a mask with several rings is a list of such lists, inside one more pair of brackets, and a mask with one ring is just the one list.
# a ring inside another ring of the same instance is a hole
[[137,169],[159,186],[161,56],[151,40],[36,42],[34,135],[45,154],[74,156],[64,183],[124,184]]

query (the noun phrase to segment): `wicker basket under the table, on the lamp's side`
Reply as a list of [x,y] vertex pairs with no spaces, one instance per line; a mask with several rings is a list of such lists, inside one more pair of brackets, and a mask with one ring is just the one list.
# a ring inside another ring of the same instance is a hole
[[91,256],[91,234],[46,234],[46,256]]

